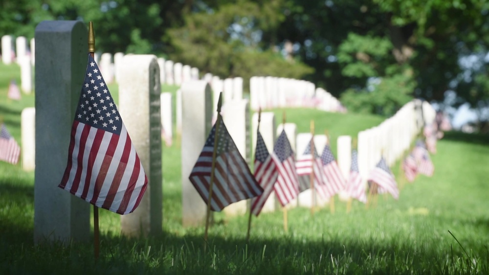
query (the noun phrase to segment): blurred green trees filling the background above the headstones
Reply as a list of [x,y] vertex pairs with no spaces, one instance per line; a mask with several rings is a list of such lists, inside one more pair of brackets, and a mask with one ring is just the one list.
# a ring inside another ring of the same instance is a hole
[[0,0],[0,33],[93,21],[101,52],[153,53],[244,83],[305,79],[350,111],[392,115],[447,91],[454,107],[488,107],[488,12],[486,0]]

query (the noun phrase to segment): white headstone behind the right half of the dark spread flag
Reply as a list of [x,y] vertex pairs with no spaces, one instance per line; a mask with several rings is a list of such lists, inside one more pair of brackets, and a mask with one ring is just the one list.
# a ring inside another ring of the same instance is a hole
[[[251,161],[251,138],[249,136],[249,103],[247,99],[231,100],[222,105],[222,121],[234,140],[238,151],[246,162]],[[224,208],[227,215],[246,213],[247,200],[233,203]]]

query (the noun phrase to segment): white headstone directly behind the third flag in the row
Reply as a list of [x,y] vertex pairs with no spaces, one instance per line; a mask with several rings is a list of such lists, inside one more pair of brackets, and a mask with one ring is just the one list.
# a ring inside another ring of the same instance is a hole
[[[258,113],[253,114],[252,118],[252,152],[255,153],[256,133],[258,129]],[[268,152],[273,152],[275,144],[275,115],[272,112],[262,112],[260,120],[260,134],[267,146]],[[273,212],[275,210],[275,193],[273,192],[268,197],[267,202],[263,206],[262,212]]]

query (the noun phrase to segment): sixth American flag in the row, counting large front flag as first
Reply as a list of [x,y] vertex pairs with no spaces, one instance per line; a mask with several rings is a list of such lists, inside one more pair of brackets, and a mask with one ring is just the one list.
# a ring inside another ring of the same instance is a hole
[[326,188],[331,197],[340,190],[343,190],[345,187],[345,178],[339,169],[338,163],[334,160],[333,153],[328,144],[324,146],[323,153],[321,154],[321,161],[323,163],[324,175],[328,180]]

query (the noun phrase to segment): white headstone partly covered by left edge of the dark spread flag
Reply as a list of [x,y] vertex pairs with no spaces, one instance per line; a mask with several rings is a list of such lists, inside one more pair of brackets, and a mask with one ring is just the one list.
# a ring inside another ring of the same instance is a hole
[[182,223],[202,225],[207,206],[189,176],[211,130],[211,89],[204,80],[185,82],[182,87]]

